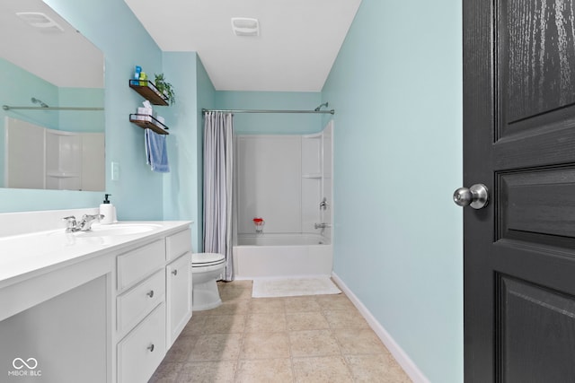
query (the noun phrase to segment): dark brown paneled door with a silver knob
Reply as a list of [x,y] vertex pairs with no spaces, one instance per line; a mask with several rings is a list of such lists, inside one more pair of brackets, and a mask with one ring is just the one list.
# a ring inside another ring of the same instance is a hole
[[575,4],[464,0],[465,382],[575,382]]

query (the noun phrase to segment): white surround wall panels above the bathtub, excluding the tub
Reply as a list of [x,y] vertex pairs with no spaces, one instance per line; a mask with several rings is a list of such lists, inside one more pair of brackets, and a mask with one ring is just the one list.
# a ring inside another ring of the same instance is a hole
[[238,234],[254,233],[253,218],[261,217],[266,234],[332,238],[332,126],[313,135],[237,136]]

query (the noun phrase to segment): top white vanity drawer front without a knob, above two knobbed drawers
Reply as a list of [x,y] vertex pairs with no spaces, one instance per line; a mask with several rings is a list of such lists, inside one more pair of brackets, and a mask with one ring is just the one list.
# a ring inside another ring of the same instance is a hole
[[118,290],[124,290],[165,262],[164,239],[156,240],[118,257]]

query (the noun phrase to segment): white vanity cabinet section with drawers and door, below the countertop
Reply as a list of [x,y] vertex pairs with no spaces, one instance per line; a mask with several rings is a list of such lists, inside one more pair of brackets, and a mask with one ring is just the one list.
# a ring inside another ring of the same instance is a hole
[[117,379],[145,382],[191,318],[190,230],[117,257]]

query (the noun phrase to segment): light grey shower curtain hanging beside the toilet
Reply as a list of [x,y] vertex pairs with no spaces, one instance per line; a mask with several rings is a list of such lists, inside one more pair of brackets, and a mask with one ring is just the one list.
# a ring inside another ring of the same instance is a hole
[[234,280],[234,116],[204,115],[204,251],[226,257],[225,281]]

